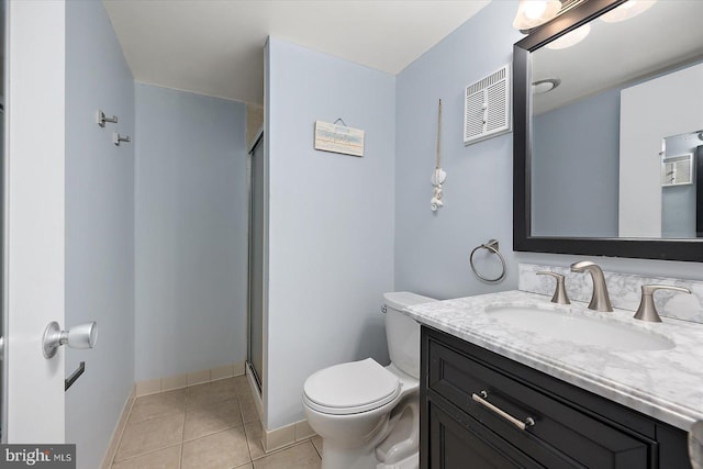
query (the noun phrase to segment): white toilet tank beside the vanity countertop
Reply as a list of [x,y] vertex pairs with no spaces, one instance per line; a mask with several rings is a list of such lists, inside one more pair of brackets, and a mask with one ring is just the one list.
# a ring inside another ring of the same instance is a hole
[[383,293],[386,337],[391,362],[415,379],[420,379],[420,324],[401,311],[431,301],[437,300],[408,291]]

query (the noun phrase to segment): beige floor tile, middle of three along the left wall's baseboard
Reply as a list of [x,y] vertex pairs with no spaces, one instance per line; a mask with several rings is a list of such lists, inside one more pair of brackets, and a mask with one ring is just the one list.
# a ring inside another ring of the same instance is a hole
[[155,449],[180,444],[183,437],[185,413],[129,423],[122,435],[115,461]]

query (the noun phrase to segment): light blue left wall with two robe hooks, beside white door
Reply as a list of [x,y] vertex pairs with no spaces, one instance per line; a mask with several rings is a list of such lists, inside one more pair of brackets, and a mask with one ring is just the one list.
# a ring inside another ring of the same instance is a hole
[[[51,79],[51,77],[47,77]],[[119,116],[100,129],[96,112]],[[38,137],[41,137],[41,130]],[[101,2],[66,2],[66,323],[98,322],[92,350],[66,348],[66,442],[100,467],[134,384],[134,81]],[[40,423],[37,423],[40,425]]]

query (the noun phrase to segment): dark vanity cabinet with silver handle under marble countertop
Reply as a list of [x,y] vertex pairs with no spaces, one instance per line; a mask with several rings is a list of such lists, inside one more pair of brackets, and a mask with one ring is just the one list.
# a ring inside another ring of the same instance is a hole
[[423,469],[690,468],[687,436],[679,428],[423,326]]

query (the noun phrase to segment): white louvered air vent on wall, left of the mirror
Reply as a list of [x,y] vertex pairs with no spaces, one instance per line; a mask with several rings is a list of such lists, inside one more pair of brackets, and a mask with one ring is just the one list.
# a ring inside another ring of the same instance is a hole
[[511,130],[510,66],[466,87],[464,144]]

